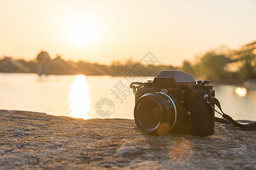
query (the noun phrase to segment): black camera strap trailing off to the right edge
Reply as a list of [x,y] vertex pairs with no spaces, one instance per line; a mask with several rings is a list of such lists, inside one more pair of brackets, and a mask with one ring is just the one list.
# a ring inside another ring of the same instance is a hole
[[[232,117],[228,116],[228,114],[225,114],[221,109],[220,101],[218,101],[218,99],[216,99],[215,97],[208,97],[207,95],[207,96],[204,96],[204,100],[210,105],[210,107],[215,112],[217,112],[218,114],[221,114],[221,116],[226,119],[224,120],[222,118],[214,117],[215,121],[221,122],[222,124],[233,124],[234,126],[241,128],[243,130],[256,130],[256,122],[253,122],[250,124],[240,124],[239,122],[234,121]],[[220,109],[221,113],[216,111],[216,109],[214,109],[214,107],[211,104],[215,104]]]

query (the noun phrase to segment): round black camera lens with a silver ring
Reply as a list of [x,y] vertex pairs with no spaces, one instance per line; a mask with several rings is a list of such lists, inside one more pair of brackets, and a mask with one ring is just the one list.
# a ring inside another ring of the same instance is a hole
[[181,107],[176,97],[164,93],[149,93],[136,102],[134,119],[138,128],[146,133],[164,134],[174,128],[180,117],[177,114],[181,114],[179,112]]

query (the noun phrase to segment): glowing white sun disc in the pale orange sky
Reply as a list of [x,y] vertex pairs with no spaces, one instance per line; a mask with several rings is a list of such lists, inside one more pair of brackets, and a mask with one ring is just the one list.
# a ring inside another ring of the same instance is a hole
[[96,42],[99,36],[99,29],[92,20],[76,18],[68,23],[67,35],[71,44],[83,47]]

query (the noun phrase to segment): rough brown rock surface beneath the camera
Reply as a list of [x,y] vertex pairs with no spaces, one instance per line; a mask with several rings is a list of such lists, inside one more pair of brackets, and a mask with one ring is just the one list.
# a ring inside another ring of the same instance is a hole
[[0,110],[0,169],[256,169],[256,132],[154,136],[133,120]]

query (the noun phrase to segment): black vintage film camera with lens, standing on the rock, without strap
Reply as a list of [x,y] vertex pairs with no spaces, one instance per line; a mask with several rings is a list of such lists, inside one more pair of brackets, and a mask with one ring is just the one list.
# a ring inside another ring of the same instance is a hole
[[[134,119],[138,128],[158,135],[212,135],[214,110],[205,97],[214,97],[209,80],[196,82],[183,71],[161,71],[153,81],[133,82]],[[211,104],[214,107],[214,104]]]

